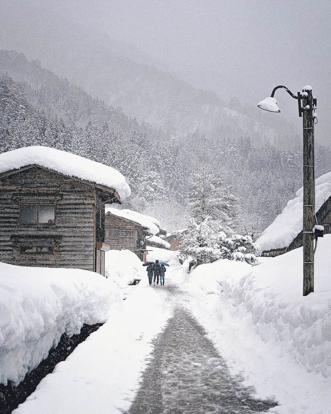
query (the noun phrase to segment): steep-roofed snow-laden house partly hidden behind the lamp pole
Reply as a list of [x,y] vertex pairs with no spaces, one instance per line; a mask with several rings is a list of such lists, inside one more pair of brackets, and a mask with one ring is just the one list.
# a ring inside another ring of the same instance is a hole
[[[331,172],[315,181],[315,212],[324,233],[331,233]],[[264,257],[275,257],[303,245],[303,189],[297,191],[282,213],[267,227],[257,240]]]

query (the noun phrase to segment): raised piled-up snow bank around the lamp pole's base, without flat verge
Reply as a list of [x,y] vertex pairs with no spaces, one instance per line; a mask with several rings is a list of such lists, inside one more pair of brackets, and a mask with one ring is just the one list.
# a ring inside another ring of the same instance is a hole
[[[315,255],[315,293],[302,296],[302,248],[249,267],[219,260],[198,266],[191,291],[219,294],[235,318],[252,317],[264,342],[275,341],[308,372],[331,378],[331,235]],[[217,305],[218,306],[218,305]],[[217,310],[215,310],[217,311]]]

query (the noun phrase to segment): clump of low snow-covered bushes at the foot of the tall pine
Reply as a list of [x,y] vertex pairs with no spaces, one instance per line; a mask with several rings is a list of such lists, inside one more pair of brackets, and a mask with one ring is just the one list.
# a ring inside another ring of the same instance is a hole
[[184,258],[194,257],[197,263],[211,263],[219,259],[256,262],[257,247],[250,236],[227,236],[220,221],[206,217],[201,223],[191,219],[179,248]]

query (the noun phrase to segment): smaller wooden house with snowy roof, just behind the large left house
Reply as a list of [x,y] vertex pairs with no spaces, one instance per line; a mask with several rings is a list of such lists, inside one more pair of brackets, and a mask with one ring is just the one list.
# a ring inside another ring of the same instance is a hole
[[142,261],[146,261],[148,248],[146,238],[165,234],[154,217],[146,216],[129,209],[105,210],[105,242],[110,249],[128,249]]

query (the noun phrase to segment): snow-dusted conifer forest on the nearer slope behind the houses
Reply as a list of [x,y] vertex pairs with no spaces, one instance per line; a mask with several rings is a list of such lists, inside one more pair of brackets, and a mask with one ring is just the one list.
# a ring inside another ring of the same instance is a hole
[[[156,214],[170,230],[185,226],[189,183],[200,165],[223,174],[224,185],[240,202],[241,220],[259,218],[261,229],[301,186],[299,146],[292,151],[257,147],[249,135],[239,133],[210,138],[196,131],[174,138],[92,98],[38,63],[16,53],[14,58],[19,60],[11,70],[24,82],[13,81],[10,67],[0,76],[0,152],[47,145],[111,165],[132,186],[126,207]],[[317,176],[329,171],[328,148],[317,146],[316,163]]]

